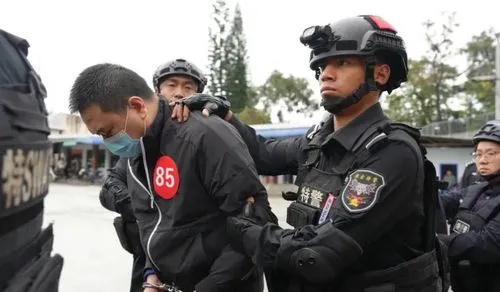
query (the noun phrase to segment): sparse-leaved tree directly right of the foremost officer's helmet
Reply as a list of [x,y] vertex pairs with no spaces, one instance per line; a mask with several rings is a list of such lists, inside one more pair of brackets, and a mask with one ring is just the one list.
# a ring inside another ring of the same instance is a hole
[[439,27],[432,21],[424,26],[427,54],[409,61],[408,82],[388,98],[391,118],[419,126],[458,117],[459,113],[450,108],[449,99],[457,94],[456,78],[464,73],[448,65],[456,54],[451,40],[458,27],[455,13],[448,15],[447,22]]

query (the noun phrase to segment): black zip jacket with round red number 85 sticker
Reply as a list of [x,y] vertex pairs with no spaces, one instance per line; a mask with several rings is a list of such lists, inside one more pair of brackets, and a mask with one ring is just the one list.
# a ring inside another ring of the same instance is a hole
[[142,140],[145,156],[127,162],[148,259],[164,283],[183,291],[262,291],[262,278],[226,234],[226,217],[239,214],[250,196],[259,220],[277,222],[245,144],[217,117],[193,113],[177,123],[159,103]]

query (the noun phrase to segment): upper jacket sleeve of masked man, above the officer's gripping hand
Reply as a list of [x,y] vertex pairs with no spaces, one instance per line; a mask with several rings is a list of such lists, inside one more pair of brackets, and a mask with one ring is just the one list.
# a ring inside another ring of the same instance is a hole
[[200,179],[220,210],[239,213],[248,197],[266,192],[255,164],[241,137],[229,124],[219,120],[204,127],[204,131],[196,156]]

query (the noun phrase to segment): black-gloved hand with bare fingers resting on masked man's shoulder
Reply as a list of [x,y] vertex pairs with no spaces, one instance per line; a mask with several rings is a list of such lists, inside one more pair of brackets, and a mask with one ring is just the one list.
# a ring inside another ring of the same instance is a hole
[[191,111],[202,111],[204,116],[217,115],[226,121],[231,119],[232,113],[229,110],[231,103],[223,96],[212,96],[197,93],[190,97],[173,101],[169,104],[173,107],[172,119],[178,122],[187,121]]

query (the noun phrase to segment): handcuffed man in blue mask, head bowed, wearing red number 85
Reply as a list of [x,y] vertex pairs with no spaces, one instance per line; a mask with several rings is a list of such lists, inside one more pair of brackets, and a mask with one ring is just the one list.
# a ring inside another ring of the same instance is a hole
[[127,190],[155,273],[143,288],[262,291],[259,271],[231,248],[224,223],[242,213],[251,197],[253,218],[277,220],[232,126],[201,115],[172,121],[164,98],[114,64],[91,66],[77,77],[70,110],[80,112],[111,152],[128,158]]

